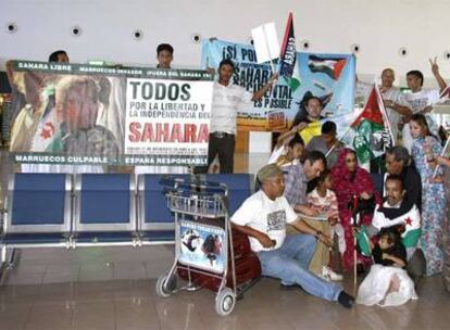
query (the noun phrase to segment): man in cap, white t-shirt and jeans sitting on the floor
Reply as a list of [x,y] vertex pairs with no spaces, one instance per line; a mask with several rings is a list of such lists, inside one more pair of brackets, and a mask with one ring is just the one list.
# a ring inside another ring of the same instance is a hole
[[[275,164],[258,173],[261,190],[248,198],[232,217],[234,227],[248,234],[251,249],[261,262],[262,275],[278,278],[284,285],[300,285],[308,293],[351,308],[354,299],[339,285],[318,278],[308,270],[316,240],[328,242],[326,234],[297,217],[283,196],[283,170]],[[303,233],[286,237],[289,223]]]

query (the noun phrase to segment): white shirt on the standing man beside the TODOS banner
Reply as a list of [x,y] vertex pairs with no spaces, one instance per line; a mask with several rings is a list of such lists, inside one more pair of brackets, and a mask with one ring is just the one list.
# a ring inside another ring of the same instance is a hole
[[223,86],[214,81],[210,131],[225,131],[235,135],[237,112],[249,104],[252,98],[253,94],[243,87],[234,84]]

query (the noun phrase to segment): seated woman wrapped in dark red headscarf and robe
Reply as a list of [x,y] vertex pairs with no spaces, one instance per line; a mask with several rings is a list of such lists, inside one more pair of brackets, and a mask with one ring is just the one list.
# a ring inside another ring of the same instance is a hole
[[[353,217],[358,208],[360,223],[371,225],[373,207],[380,202],[375,192],[371,175],[358,165],[357,154],[351,149],[342,149],[337,164],[332,168],[333,190],[338,200],[339,219],[345,230],[346,252],[342,255],[345,270],[350,270],[354,262]],[[357,206],[358,205],[358,206]],[[370,265],[370,258],[358,255],[358,263]]]

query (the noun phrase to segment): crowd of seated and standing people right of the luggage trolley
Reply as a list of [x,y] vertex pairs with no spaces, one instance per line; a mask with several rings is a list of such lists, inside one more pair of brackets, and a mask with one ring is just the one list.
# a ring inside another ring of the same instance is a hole
[[[420,280],[442,271],[449,214],[442,176],[450,160],[442,156],[446,134],[430,112],[447,85],[436,60],[430,65],[439,90],[423,90],[423,74],[411,71],[412,92],[404,94],[393,87],[391,68],[382,73],[379,89],[393,136],[382,166],[383,189],[359,165],[355,151],[337,139],[335,123],[323,123],[323,101],[302,100],[303,115],[278,137],[268,165],[258,174],[261,190],[232,217],[255,246],[263,275],[279,278],[284,289],[299,285],[351,307],[354,299],[332,283],[343,278],[338,271],[345,276],[357,267],[365,276],[357,303],[382,306],[417,299]],[[322,125],[320,136],[305,130],[311,123]],[[302,243],[304,234],[316,238],[314,252]],[[328,248],[339,255],[338,264]]]

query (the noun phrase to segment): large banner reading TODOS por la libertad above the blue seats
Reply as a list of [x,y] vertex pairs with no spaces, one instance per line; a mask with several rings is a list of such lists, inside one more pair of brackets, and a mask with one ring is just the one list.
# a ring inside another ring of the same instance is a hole
[[14,62],[10,151],[21,163],[204,165],[213,75]]

